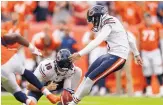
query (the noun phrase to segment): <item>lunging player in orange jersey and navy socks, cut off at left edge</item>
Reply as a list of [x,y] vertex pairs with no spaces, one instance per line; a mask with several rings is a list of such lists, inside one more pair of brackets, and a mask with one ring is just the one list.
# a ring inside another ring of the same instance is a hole
[[15,74],[18,73],[25,77],[31,84],[36,86],[52,103],[59,101],[59,98],[44,87],[31,71],[28,71],[23,67],[23,64],[17,55],[18,47],[10,47],[10,45],[16,43],[28,47],[33,54],[41,55],[39,50],[21,35],[16,33],[6,34],[4,30],[1,30],[2,87],[4,87],[8,92],[12,93],[18,101],[26,103],[27,105],[36,105],[31,99],[27,98],[17,84]]

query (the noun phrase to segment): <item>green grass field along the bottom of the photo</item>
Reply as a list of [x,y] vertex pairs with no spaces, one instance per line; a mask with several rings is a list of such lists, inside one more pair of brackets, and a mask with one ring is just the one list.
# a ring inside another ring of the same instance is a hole
[[[11,95],[1,96],[1,105],[22,105]],[[38,105],[52,105],[42,97]],[[163,105],[163,98],[88,96],[79,105]]]

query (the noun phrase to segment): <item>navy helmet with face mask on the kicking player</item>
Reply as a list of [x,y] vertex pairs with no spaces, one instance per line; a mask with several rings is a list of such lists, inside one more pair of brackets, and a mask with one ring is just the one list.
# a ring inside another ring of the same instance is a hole
[[[88,10],[87,20],[88,20],[88,22],[93,23],[94,29],[98,29],[101,19],[102,19],[102,16],[107,13],[108,13],[108,11],[104,6],[95,5]],[[94,31],[96,31],[96,30],[94,30]]]

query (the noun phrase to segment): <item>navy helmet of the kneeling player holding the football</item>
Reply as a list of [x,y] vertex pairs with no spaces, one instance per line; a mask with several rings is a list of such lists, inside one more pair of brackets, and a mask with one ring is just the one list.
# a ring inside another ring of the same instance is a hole
[[69,60],[69,56],[71,55],[70,51],[67,49],[61,49],[57,53],[57,66],[62,70],[68,70],[73,68],[73,63]]

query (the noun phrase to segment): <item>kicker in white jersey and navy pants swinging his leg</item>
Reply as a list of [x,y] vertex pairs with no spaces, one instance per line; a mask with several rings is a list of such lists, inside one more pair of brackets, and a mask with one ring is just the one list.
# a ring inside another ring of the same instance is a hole
[[116,17],[108,15],[107,10],[103,6],[96,5],[90,8],[87,12],[87,19],[88,22],[93,24],[93,30],[98,32],[98,36],[84,49],[71,55],[70,60],[75,61],[79,59],[103,41],[106,41],[108,44],[108,53],[97,58],[89,67],[83,81],[73,95],[73,101],[68,105],[78,104],[99,79],[120,70],[128,57],[129,47],[131,47],[137,63],[142,65],[135,41],[129,40],[129,36],[121,22]]

